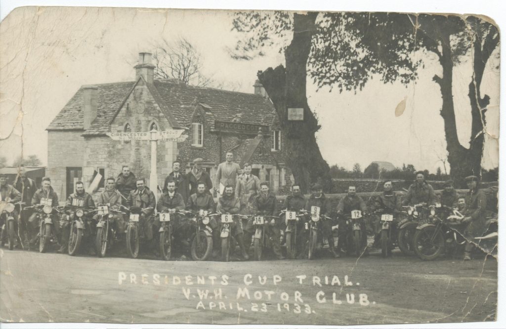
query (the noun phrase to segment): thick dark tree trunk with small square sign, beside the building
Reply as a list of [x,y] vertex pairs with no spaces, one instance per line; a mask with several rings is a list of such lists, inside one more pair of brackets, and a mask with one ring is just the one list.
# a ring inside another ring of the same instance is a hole
[[[303,192],[320,179],[326,191],[331,186],[330,168],[316,143],[315,133],[320,126],[306,97],[306,68],[317,15],[293,15],[293,39],[285,51],[286,70],[280,65],[259,72],[260,82],[274,103],[279,118],[286,163]],[[288,121],[288,108],[303,108],[304,121]]]

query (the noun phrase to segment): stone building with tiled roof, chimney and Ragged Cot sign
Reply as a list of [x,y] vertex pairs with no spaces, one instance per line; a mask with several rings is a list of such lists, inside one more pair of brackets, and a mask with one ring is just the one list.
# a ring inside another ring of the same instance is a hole
[[[289,189],[292,176],[285,167],[284,138],[258,81],[255,93],[247,94],[154,79],[153,70],[151,54],[140,53],[134,81],[82,86],[51,122],[47,175],[63,196],[73,192],[77,180],[89,186],[97,173],[116,177],[122,165],[149,179],[150,142],[117,141],[106,134],[153,129],[184,129],[189,136],[183,142],[156,142],[160,185],[176,159],[184,168],[201,157],[214,178],[218,163],[231,150],[234,161],[251,163],[254,174],[271,189]],[[99,190],[103,187],[101,181]]]

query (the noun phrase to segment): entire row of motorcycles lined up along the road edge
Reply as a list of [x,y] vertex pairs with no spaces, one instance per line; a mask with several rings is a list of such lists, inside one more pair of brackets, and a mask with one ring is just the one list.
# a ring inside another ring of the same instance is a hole
[[[15,232],[15,218],[12,216],[15,205],[10,202],[2,204],[2,246],[6,240],[9,249],[14,248],[17,234]],[[230,261],[231,254],[239,245],[231,232],[234,225],[242,225],[243,222],[253,218],[255,234],[252,237],[255,260],[262,260],[264,251],[272,248],[272,237],[267,234],[266,225],[270,225],[272,219],[277,216],[257,216],[238,214],[208,214],[204,210],[198,213],[190,211],[177,211],[172,213],[155,214],[154,220],[159,221],[158,235],[154,239],[148,239],[143,234],[139,219],[142,212],[152,211],[152,208],[130,209],[121,207],[120,210],[112,209],[108,204],[100,204],[97,209],[75,208],[65,211],[65,206],[52,207],[51,204],[39,204],[24,209],[32,208],[37,214],[39,252],[48,250],[51,243],[58,241],[54,221],[62,219],[70,221],[70,236],[68,254],[76,255],[80,250],[83,240],[92,242],[97,256],[105,257],[107,251],[119,240],[124,238],[126,251],[132,258],[137,258],[141,245],[157,242],[160,258],[170,260],[176,231],[182,229],[182,225],[173,224],[185,222],[186,237],[189,240],[191,257],[195,261],[203,261],[210,258],[213,251],[213,229],[209,226],[210,218],[221,220],[221,260]],[[69,214],[70,213],[70,214]],[[98,216],[94,216],[98,215]],[[117,232],[114,225],[115,216],[128,218],[125,232]],[[286,256],[289,259],[296,258],[297,239],[303,239],[304,254],[308,259],[314,259],[317,252],[326,242],[323,237],[322,226],[329,217],[321,215],[318,207],[313,207],[310,212],[300,210],[298,212],[283,210],[279,216],[284,218],[285,229],[281,243],[286,245]],[[440,203],[434,206],[415,204],[403,207],[396,213],[389,213],[378,209],[370,213],[362,213],[354,210],[345,216],[347,221],[346,241],[341,243],[347,255],[360,256],[367,246],[367,233],[364,232],[365,218],[379,218],[380,229],[379,244],[382,255],[388,257],[392,250],[398,247],[405,255],[417,255],[422,260],[434,260],[442,253],[451,254],[458,252],[460,247],[468,241],[462,234],[461,220],[463,215],[457,209],[441,207]],[[309,220],[308,220],[309,219]],[[238,223],[238,224],[237,224]],[[394,224],[395,223],[395,224]],[[189,233],[188,233],[188,227]],[[334,227],[335,228],[335,227]],[[302,230],[302,232],[299,232]],[[181,234],[179,234],[181,235]],[[153,240],[153,241],[152,241]],[[487,219],[487,231],[482,237],[475,239],[478,249],[496,257],[497,254],[497,217]],[[35,239],[36,241],[36,239]]]

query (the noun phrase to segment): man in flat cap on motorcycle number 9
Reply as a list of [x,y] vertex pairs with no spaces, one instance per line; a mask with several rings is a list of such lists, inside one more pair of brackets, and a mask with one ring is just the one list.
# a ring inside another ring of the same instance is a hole
[[[311,196],[309,197],[308,201],[306,202],[306,211],[311,213],[312,207],[319,207],[320,208],[320,216],[327,216],[330,217],[331,207],[330,207],[330,200],[327,199],[325,196],[325,193],[323,193],[323,189],[320,184],[316,183],[311,188]],[[321,217],[320,217],[321,219]],[[310,220],[309,218],[307,220]],[[322,228],[322,237],[325,237],[328,241],[328,250],[332,254],[333,257],[338,258],[339,254],[335,252],[334,247],[334,236],[332,234],[332,226],[333,221],[331,219],[322,219],[321,228]],[[306,235],[307,237],[308,235]],[[305,243],[306,240],[299,239],[301,242]],[[321,243],[318,241],[318,243]],[[304,250],[302,251],[304,252]],[[301,255],[302,256],[302,255]]]

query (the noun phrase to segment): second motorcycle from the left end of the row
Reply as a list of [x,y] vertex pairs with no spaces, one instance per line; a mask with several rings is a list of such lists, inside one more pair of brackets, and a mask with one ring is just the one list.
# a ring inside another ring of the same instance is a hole
[[[40,253],[45,253],[48,250],[49,244],[51,242],[58,241],[54,221],[60,220],[60,215],[63,213],[65,206],[58,206],[54,208],[50,203],[42,203],[38,205],[32,205],[31,207],[26,207],[25,209],[30,208],[33,208],[35,210],[35,219],[39,222],[39,232],[36,237],[38,238],[38,251]],[[56,212],[57,214],[55,215],[53,212]]]

